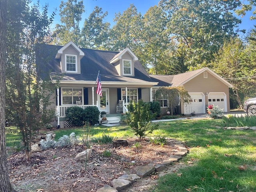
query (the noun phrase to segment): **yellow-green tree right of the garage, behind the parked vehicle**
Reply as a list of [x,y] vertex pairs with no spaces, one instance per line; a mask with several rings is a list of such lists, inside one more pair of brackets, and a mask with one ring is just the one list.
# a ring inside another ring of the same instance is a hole
[[[233,85],[233,95],[240,108],[243,99],[255,91],[255,62],[250,61],[250,50],[246,49],[239,38],[225,42],[216,55],[213,70]],[[255,92],[254,92],[255,93]]]

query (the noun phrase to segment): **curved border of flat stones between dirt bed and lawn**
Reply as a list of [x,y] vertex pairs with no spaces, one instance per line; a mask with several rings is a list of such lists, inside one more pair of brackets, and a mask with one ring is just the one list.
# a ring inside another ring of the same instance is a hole
[[170,166],[174,162],[178,162],[188,153],[188,149],[182,144],[182,142],[176,141],[174,146],[177,148],[177,150],[174,150],[174,154],[171,155],[168,159],[163,160],[162,164],[156,164],[155,166],[138,166],[135,168],[136,174],[124,174],[117,179],[112,180],[113,187],[104,185],[96,192],[118,192],[130,186],[136,180],[150,175],[154,171],[160,172],[165,170],[166,166]]

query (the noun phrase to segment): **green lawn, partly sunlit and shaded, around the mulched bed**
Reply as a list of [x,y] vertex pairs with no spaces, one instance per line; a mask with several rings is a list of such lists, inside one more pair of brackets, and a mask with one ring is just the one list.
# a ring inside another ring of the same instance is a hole
[[[159,122],[149,136],[180,140],[190,147],[182,162],[184,168],[160,177],[154,192],[253,192],[256,191],[256,132],[253,130],[223,130],[222,120],[175,120]],[[84,128],[56,130],[56,139],[62,135],[86,134]],[[89,138],[107,134],[117,138],[134,136],[128,126],[90,127]],[[7,132],[8,144],[14,144],[19,135]],[[187,161],[193,162],[188,164]],[[246,170],[239,170],[245,165]],[[177,174],[181,174],[180,176]],[[186,190],[187,189],[187,190]]]

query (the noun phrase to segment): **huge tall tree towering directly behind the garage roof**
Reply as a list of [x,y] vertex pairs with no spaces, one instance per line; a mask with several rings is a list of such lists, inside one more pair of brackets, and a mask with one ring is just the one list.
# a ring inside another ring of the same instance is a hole
[[234,28],[241,23],[232,11],[240,1],[161,0],[160,7],[168,14],[169,35],[186,46],[185,63],[191,69],[209,66],[213,55],[235,36]]

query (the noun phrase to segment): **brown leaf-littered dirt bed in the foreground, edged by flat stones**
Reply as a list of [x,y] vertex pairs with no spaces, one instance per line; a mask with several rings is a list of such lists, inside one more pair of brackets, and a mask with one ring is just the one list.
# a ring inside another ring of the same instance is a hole
[[[82,145],[33,153],[30,161],[23,152],[12,154],[8,158],[10,181],[19,192],[95,192],[105,184],[112,186],[114,178],[135,174],[137,166],[161,164],[177,150],[174,146],[177,141],[172,139],[163,147],[150,144],[147,139],[138,142],[138,138],[129,138],[127,141],[128,146],[118,148],[113,148],[112,144],[92,145],[92,156],[87,164],[74,159],[84,150]],[[105,150],[110,150],[110,157],[103,157]],[[184,164],[177,163],[166,171],[140,179],[122,191],[148,191],[156,184],[158,176],[175,172],[180,166]]]

